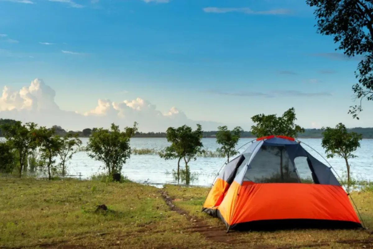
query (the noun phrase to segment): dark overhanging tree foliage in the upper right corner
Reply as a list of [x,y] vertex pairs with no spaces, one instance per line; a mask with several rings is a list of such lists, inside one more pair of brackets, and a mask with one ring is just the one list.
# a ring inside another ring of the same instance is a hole
[[[358,84],[352,86],[360,104],[351,106],[349,113],[358,119],[361,101],[373,100],[373,4],[372,0],[307,0],[315,7],[318,31],[332,35],[338,49],[348,57],[357,56],[355,76]],[[361,58],[361,59],[360,59]],[[360,84],[360,85],[359,85]]]

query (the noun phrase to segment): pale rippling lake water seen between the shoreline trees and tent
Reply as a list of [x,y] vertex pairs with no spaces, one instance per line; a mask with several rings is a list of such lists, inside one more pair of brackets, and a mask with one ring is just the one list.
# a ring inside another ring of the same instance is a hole
[[[252,138],[242,138],[237,148],[241,147],[245,143],[253,140]],[[303,138],[300,139],[304,144],[308,144],[314,150],[319,152],[323,157],[326,158],[324,150],[321,147],[321,139],[314,138]],[[82,138],[83,145],[87,144],[88,138]],[[215,138],[203,138],[204,148],[207,150],[216,150],[218,145],[216,144]],[[311,153],[319,161],[326,164],[325,160],[317,154],[314,150],[309,147],[303,147]],[[168,146],[166,138],[132,138],[131,147],[142,149],[162,149]],[[239,149],[240,152],[245,150],[248,145]],[[355,152],[357,158],[350,160],[351,174],[354,177],[362,178],[365,180],[373,180],[373,140],[364,139],[361,141],[361,147]],[[198,173],[198,180],[191,183],[192,185],[210,186],[219,171],[223,166],[226,159],[224,158],[198,158],[196,161],[189,163],[191,172]],[[333,166],[335,171],[341,176],[346,171],[346,165],[344,159],[333,158],[327,159],[330,165]],[[89,178],[93,174],[103,172],[100,170],[100,166],[103,164],[87,156],[85,152],[76,153],[72,160],[69,162],[68,171],[69,174],[81,174],[82,178]],[[182,167],[184,167],[181,164]],[[131,158],[123,165],[122,173],[126,175],[130,180],[148,183],[152,185],[162,186],[165,183],[174,183],[171,174],[172,169],[177,168],[177,160],[165,161],[158,155],[131,155]]]

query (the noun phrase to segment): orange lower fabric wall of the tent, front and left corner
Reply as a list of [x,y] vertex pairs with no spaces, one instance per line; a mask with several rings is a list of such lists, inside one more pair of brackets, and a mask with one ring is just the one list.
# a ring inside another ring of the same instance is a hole
[[[237,195],[238,194],[238,195]],[[226,225],[258,220],[315,219],[360,224],[341,186],[233,181],[218,208]]]

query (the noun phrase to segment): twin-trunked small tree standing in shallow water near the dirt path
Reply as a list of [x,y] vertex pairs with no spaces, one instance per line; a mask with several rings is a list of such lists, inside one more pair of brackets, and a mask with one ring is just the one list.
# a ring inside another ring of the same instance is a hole
[[169,127],[166,131],[167,141],[171,143],[162,152],[159,153],[165,160],[178,159],[177,179],[180,179],[180,161],[184,159],[186,171],[186,184],[189,184],[190,171],[188,163],[194,159],[197,160],[197,154],[203,152],[202,138],[203,131],[201,125],[197,124],[197,129],[183,125],[178,128]]

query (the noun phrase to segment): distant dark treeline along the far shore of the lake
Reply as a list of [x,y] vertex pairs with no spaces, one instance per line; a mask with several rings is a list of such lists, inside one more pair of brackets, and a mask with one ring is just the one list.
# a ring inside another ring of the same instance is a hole
[[[6,123],[12,123],[16,122],[13,119],[0,119],[0,125],[6,124]],[[72,134],[79,134],[79,137],[89,137],[92,133],[92,131],[95,130],[95,128],[86,128],[82,131],[66,131],[62,127],[58,125],[53,125],[53,128],[56,130],[56,134],[63,136],[66,133],[72,133]],[[350,128],[350,131],[360,133],[363,135],[363,138],[373,138],[373,127],[372,128]],[[299,134],[299,138],[322,138],[322,129],[305,129],[305,133]],[[217,131],[204,131],[203,137],[209,138],[209,137],[215,137],[215,134]],[[3,131],[0,129],[0,137],[3,137]],[[144,137],[144,138],[151,138],[151,137],[166,137],[165,132],[137,132],[134,137]],[[253,134],[251,134],[250,131],[243,131],[241,133],[242,138],[251,138],[255,137]]]

